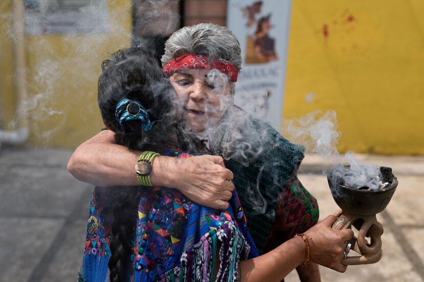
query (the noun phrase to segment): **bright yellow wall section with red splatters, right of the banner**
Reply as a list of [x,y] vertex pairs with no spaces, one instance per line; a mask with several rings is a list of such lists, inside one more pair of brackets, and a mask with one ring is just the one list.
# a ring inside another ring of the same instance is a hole
[[341,151],[424,154],[423,14],[422,0],[293,0],[284,118],[335,110]]

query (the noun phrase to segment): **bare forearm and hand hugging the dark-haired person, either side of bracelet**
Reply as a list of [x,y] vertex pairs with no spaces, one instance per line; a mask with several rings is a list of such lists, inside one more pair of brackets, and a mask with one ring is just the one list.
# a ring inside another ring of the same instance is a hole
[[[139,185],[134,165],[141,151],[114,144],[114,134],[105,130],[81,144],[67,168],[80,181],[96,186]],[[158,156],[152,162],[153,185],[173,187],[203,206],[228,208],[233,174],[219,156],[172,158]]]

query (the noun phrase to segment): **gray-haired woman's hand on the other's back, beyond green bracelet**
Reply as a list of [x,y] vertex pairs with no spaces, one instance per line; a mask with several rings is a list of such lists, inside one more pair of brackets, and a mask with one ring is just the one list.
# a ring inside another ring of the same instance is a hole
[[187,198],[203,206],[225,210],[232,196],[233,174],[220,156],[192,158],[156,157],[150,175],[152,183],[177,188]]

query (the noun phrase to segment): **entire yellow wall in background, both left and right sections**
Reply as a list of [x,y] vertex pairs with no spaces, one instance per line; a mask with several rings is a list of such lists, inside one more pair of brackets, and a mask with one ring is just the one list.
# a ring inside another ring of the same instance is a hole
[[[0,4],[3,129],[15,126],[10,3]],[[102,126],[100,63],[131,34],[131,1],[108,4],[106,34],[26,36],[26,145],[73,148]],[[284,118],[335,110],[341,151],[424,154],[423,14],[421,0],[293,0]]]

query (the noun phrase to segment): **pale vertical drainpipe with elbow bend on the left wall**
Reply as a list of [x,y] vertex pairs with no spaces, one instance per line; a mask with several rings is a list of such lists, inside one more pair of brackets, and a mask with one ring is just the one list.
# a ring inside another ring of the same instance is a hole
[[15,50],[15,93],[16,93],[16,117],[17,129],[13,131],[0,130],[0,144],[20,144],[27,141],[29,136],[27,111],[23,106],[23,99],[27,95],[25,78],[25,25],[24,25],[23,1],[13,1],[13,28]]

